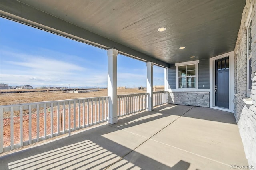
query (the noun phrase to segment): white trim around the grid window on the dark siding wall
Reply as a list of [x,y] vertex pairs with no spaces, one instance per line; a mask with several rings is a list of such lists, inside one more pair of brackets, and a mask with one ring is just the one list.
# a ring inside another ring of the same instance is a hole
[[[175,63],[175,66],[176,66],[176,89],[174,91],[198,91],[198,63],[199,63],[199,60],[188,61],[188,62],[183,62],[183,63]],[[192,65],[192,64],[196,65],[196,88],[178,88],[178,85],[179,85],[178,66]],[[203,89],[203,90],[206,91],[205,89]]]

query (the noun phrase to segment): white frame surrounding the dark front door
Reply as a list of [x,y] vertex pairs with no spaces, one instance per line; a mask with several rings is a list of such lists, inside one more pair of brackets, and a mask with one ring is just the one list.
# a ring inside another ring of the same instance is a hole
[[[215,106],[215,61],[229,57],[229,109]],[[234,51],[209,59],[210,62],[210,108],[234,113]]]

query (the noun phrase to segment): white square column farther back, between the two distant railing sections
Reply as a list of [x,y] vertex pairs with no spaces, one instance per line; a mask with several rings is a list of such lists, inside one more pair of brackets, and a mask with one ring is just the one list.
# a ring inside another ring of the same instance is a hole
[[147,63],[147,93],[148,95],[148,111],[153,110],[153,65],[154,63]]

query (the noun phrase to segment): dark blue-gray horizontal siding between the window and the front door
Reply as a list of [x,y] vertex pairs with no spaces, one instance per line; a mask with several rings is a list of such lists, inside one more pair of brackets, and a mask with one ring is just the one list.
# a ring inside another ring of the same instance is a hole
[[202,59],[198,63],[198,89],[210,89],[209,59]]

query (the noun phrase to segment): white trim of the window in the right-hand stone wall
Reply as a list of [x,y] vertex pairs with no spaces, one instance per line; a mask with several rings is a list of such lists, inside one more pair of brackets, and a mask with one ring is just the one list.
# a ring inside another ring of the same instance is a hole
[[249,65],[249,60],[250,58],[252,58],[252,52],[249,55],[249,30],[248,27],[250,26],[252,22],[252,4],[250,5],[250,9],[248,12],[248,16],[245,22],[245,27],[246,27],[246,96],[247,97],[252,97],[252,93],[251,93],[251,89],[249,89],[249,80],[251,79],[251,75],[249,75],[249,67],[251,67]]

